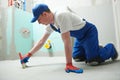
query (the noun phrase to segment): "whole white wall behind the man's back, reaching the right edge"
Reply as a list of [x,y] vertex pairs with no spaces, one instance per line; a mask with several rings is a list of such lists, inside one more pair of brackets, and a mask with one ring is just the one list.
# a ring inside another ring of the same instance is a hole
[[97,26],[101,45],[112,42],[120,52],[120,0],[70,0],[68,7]]

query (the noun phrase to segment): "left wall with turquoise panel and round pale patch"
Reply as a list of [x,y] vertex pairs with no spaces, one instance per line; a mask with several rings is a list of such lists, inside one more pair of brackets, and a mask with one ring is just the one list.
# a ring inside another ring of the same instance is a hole
[[2,8],[0,60],[18,59],[33,46],[31,13],[15,7]]

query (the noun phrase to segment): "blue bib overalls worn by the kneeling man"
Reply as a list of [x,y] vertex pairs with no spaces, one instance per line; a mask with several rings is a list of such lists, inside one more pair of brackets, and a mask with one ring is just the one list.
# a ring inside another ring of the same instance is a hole
[[86,22],[86,25],[80,30],[70,31],[70,36],[75,38],[73,58],[84,57],[86,61],[90,61],[99,57],[105,61],[115,55],[115,48],[112,43],[107,44],[105,47],[99,47],[96,26],[89,22]]

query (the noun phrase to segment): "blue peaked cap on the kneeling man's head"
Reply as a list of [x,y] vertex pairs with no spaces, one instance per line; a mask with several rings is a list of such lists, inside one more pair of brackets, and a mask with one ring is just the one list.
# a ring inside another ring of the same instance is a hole
[[35,22],[39,16],[46,10],[48,10],[48,6],[46,4],[38,4],[36,5],[33,9],[32,9],[32,12],[33,12],[33,18],[31,20],[31,23]]

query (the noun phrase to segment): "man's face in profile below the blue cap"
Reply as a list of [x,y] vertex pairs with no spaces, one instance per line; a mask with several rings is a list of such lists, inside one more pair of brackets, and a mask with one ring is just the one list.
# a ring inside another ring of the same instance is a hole
[[50,24],[49,14],[50,13],[48,13],[48,12],[43,12],[38,18],[38,23],[39,24],[44,24],[44,25]]

